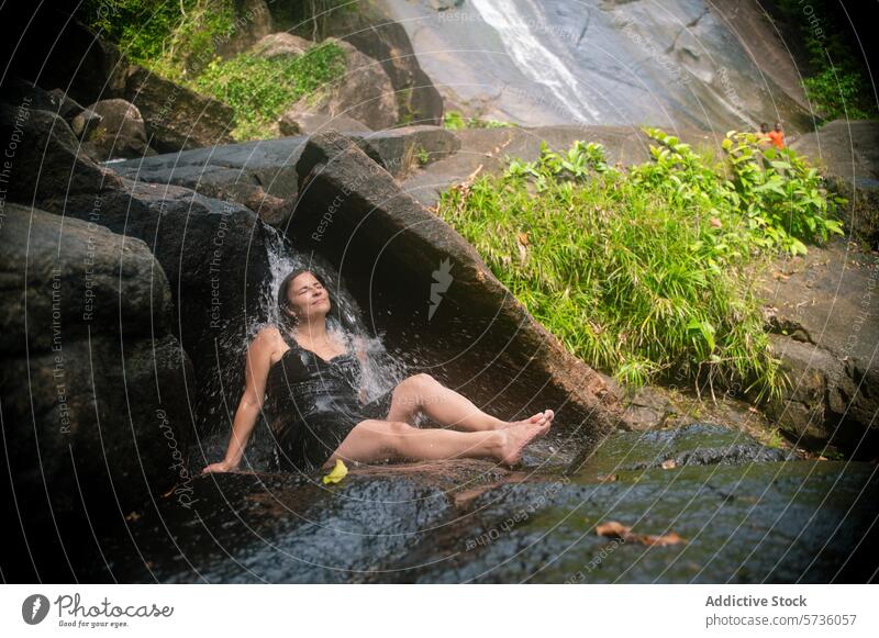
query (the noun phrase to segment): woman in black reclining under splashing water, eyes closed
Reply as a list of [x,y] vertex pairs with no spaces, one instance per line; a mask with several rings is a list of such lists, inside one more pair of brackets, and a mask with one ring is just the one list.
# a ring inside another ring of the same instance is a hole
[[[331,468],[336,459],[492,458],[519,462],[523,448],[549,430],[552,410],[518,422],[481,412],[427,374],[409,377],[364,403],[361,344],[327,329],[332,309],[323,283],[309,270],[288,275],[278,290],[281,325],[259,331],[247,350],[245,391],[232,425],[225,458],[202,470],[238,468],[247,439],[268,400],[279,464]],[[447,429],[410,425],[424,413]]]

